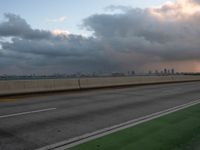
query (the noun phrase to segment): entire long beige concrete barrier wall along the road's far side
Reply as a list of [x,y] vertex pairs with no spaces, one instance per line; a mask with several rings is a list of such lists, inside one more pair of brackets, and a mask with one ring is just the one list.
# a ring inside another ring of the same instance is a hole
[[0,81],[0,95],[79,90],[138,84],[200,81],[200,76],[136,76],[81,79],[13,80]]

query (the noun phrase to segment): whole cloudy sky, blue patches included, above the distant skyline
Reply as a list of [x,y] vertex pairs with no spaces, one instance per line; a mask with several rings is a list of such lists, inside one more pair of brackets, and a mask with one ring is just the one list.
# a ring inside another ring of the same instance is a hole
[[0,74],[200,71],[200,0],[0,4]]

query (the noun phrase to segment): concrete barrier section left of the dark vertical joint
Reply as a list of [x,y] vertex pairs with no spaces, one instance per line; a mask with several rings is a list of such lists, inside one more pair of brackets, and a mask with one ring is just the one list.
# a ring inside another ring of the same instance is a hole
[[0,81],[0,95],[79,89],[77,79]]

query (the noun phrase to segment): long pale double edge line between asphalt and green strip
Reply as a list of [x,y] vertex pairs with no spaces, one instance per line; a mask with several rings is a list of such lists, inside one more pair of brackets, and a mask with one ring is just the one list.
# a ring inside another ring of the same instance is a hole
[[56,143],[56,144],[48,145],[48,146],[39,148],[37,150],[66,150],[68,148],[71,148],[71,147],[74,147],[76,145],[88,142],[90,140],[94,140],[94,139],[97,139],[99,137],[103,137],[105,135],[108,135],[108,134],[111,134],[111,133],[114,133],[114,132],[117,132],[117,131],[121,131],[123,129],[127,129],[127,128],[130,128],[130,127],[136,126],[138,124],[141,124],[141,123],[144,123],[144,122],[165,116],[167,114],[170,114],[170,113],[173,113],[173,112],[176,112],[176,111],[179,111],[179,110],[182,110],[182,109],[194,106],[194,105],[197,105],[199,103],[200,103],[200,99],[198,99],[196,101],[192,101],[192,102],[187,103],[187,104],[176,106],[176,107],[164,110],[164,111],[156,112],[156,113],[144,116],[144,117],[133,119],[133,120],[130,120],[130,121],[122,123],[122,124],[118,124],[118,125],[115,125],[115,126],[112,126],[112,127],[104,128],[104,129],[101,129],[101,130],[98,130],[98,131],[95,131],[95,132],[92,132],[92,133],[84,134],[82,136],[75,137],[75,138],[72,138],[72,139],[69,139],[69,140],[66,140],[66,141],[62,141],[62,142],[59,142],[59,143]]

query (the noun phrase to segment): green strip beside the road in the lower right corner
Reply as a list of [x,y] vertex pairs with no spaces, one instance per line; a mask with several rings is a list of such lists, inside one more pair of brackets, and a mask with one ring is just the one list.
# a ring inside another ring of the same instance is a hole
[[68,150],[200,150],[200,105]]

